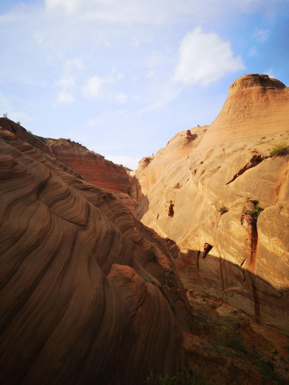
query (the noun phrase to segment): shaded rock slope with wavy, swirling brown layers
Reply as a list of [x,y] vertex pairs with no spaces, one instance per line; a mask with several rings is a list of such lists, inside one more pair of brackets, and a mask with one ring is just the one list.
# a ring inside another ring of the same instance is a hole
[[61,144],[41,145],[53,157],[12,131],[0,128],[0,382],[135,385],[180,370],[194,324],[159,236],[59,162]]

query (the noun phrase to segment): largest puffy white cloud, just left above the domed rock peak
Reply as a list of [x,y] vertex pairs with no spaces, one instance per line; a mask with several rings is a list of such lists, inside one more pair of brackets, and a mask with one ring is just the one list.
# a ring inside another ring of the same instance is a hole
[[242,58],[240,55],[234,57],[229,42],[221,40],[216,33],[204,33],[197,27],[181,41],[174,80],[186,86],[208,85],[241,69],[245,69]]

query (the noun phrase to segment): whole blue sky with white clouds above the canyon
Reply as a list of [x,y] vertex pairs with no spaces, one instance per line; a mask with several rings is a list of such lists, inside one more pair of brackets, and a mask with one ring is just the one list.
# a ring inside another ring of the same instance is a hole
[[229,85],[289,85],[289,0],[0,0],[0,115],[136,168]]

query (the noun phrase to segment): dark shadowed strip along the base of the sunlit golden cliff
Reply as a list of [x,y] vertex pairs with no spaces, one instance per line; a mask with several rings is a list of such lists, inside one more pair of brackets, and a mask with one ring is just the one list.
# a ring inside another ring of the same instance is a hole
[[289,335],[289,288],[277,288],[250,272],[244,262],[239,266],[204,251],[181,253],[174,241],[163,239],[174,257],[174,263],[185,290],[209,293],[218,300],[244,312],[255,322]]

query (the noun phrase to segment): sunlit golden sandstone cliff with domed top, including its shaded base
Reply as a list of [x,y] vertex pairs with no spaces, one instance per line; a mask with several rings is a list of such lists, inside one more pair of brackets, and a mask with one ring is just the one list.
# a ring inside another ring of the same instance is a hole
[[[167,240],[187,288],[289,333],[289,88],[267,75],[230,86],[210,126],[139,163],[135,216]],[[254,203],[257,200],[259,203]],[[248,214],[264,208],[257,221]]]

